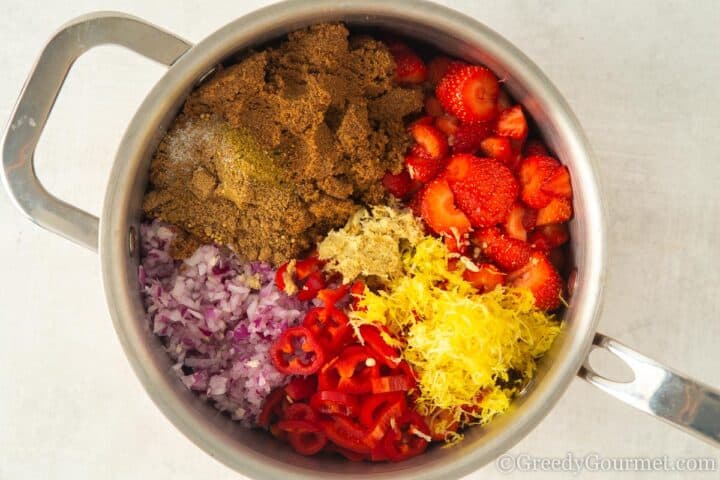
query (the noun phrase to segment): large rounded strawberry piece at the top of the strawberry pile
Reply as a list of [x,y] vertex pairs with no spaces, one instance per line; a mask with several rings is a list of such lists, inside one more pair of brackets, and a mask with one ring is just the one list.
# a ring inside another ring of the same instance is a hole
[[445,111],[462,122],[487,121],[495,118],[500,86],[495,75],[485,67],[451,66],[438,83],[435,95]]

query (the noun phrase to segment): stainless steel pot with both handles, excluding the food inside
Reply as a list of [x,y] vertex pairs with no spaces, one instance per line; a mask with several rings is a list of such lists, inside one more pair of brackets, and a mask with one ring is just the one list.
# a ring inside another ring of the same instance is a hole
[[[189,392],[171,374],[170,360],[143,320],[137,281],[138,224],[150,157],[188,92],[234,53],[309,24],[343,21],[417,38],[450,55],[492,68],[542,130],[572,172],[577,266],[565,329],[542,359],[535,381],[501,418],[473,428],[453,448],[432,449],[400,464],[355,464],[306,458],[269,435],[247,431]],[[102,218],[53,197],[40,185],[33,153],[73,61],[93,46],[126,46],[169,67],[125,132],[107,187]],[[452,478],[511,448],[548,413],[579,375],[610,395],[714,445],[720,445],[720,392],[664,367],[595,332],[605,268],[602,197],[587,139],[560,93],[530,59],[495,32],[447,8],[414,0],[294,0],[256,11],[196,45],[140,19],[94,13],[66,24],[50,40],[25,84],[3,147],[5,186],[35,223],[85,247],[100,247],[108,305],[120,341],[160,410],[193,442],[238,472],[257,478]],[[633,371],[626,383],[606,378],[587,362],[606,349]]]

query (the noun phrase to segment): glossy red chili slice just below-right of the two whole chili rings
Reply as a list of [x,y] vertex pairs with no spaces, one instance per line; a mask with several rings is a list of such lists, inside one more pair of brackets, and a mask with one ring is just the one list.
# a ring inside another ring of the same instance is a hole
[[344,393],[370,393],[370,380],[379,375],[378,361],[362,345],[350,345],[318,374],[318,388]]

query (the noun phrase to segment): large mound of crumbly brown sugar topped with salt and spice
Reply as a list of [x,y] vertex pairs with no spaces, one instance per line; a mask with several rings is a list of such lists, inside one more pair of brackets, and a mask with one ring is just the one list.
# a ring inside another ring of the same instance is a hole
[[423,94],[393,84],[382,43],[348,37],[343,25],[316,25],[219,69],[158,147],[145,212],[191,234],[181,242],[278,264],[382,202],[380,180],[410,143],[403,117]]

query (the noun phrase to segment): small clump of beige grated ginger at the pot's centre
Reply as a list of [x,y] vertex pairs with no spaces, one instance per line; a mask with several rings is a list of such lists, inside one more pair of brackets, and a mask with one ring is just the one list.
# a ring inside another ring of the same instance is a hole
[[358,210],[339,230],[328,233],[318,245],[325,270],[338,272],[343,283],[360,276],[383,281],[403,275],[403,253],[425,236],[409,210],[374,206]]

